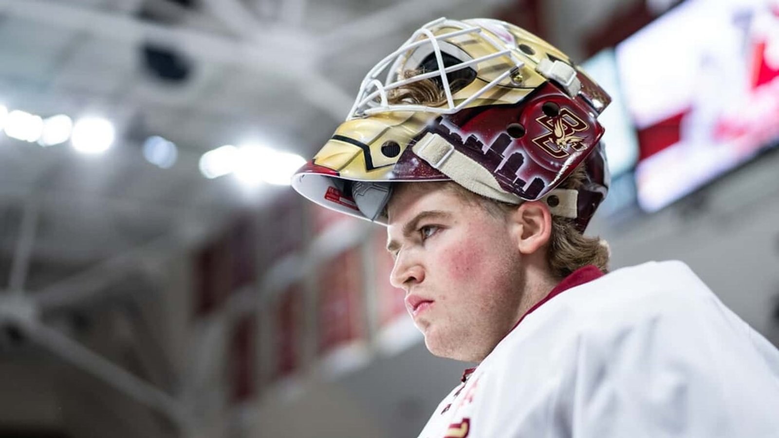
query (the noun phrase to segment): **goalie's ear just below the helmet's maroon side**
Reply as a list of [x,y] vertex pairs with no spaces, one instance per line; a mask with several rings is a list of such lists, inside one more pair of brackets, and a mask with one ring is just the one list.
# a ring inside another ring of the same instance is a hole
[[530,255],[536,253],[549,242],[552,235],[552,214],[545,203],[541,201],[526,201],[521,203],[510,214],[513,238],[520,253]]

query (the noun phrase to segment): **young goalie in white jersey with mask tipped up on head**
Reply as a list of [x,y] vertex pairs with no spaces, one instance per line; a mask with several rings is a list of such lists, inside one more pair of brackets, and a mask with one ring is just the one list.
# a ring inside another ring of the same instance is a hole
[[421,437],[779,436],[779,352],[683,263],[606,274],[582,234],[608,189],[608,101],[516,26],[439,19],[294,177],[387,226],[428,349],[478,362]]

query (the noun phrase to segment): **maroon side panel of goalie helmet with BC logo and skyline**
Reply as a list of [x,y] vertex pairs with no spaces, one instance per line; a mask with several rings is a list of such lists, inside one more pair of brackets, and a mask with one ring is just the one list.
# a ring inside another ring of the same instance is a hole
[[[538,200],[565,179],[601,139],[603,127],[583,110],[586,105],[546,83],[518,104],[443,115],[417,138],[427,132],[439,134],[495,175],[506,192]],[[420,161],[410,149],[398,161],[398,168],[418,166],[405,163]],[[404,173],[397,172],[397,178],[412,177]]]

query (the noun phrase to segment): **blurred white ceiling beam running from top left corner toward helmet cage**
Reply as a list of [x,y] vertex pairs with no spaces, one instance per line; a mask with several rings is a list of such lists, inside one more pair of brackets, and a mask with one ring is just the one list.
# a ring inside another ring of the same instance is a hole
[[[306,39],[294,43],[287,34],[238,41],[182,27],[164,26],[129,16],[52,2],[51,0],[0,0],[0,13],[48,26],[57,26],[106,40],[138,45],[149,41],[167,44],[192,58],[254,69],[268,78],[293,81],[301,97],[333,118],[343,118],[353,98],[316,71],[319,44]],[[290,47],[280,45],[288,41]],[[302,50],[307,48],[307,50]]]

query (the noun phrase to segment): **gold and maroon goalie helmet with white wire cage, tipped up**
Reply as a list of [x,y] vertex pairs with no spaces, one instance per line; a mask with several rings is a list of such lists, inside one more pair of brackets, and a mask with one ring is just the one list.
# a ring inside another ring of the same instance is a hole
[[[393,182],[453,180],[506,203],[545,200],[583,231],[608,191],[597,115],[609,102],[565,54],[520,27],[437,19],[368,72],[346,121],[292,187],[386,224]],[[559,189],[580,164],[583,185]]]

